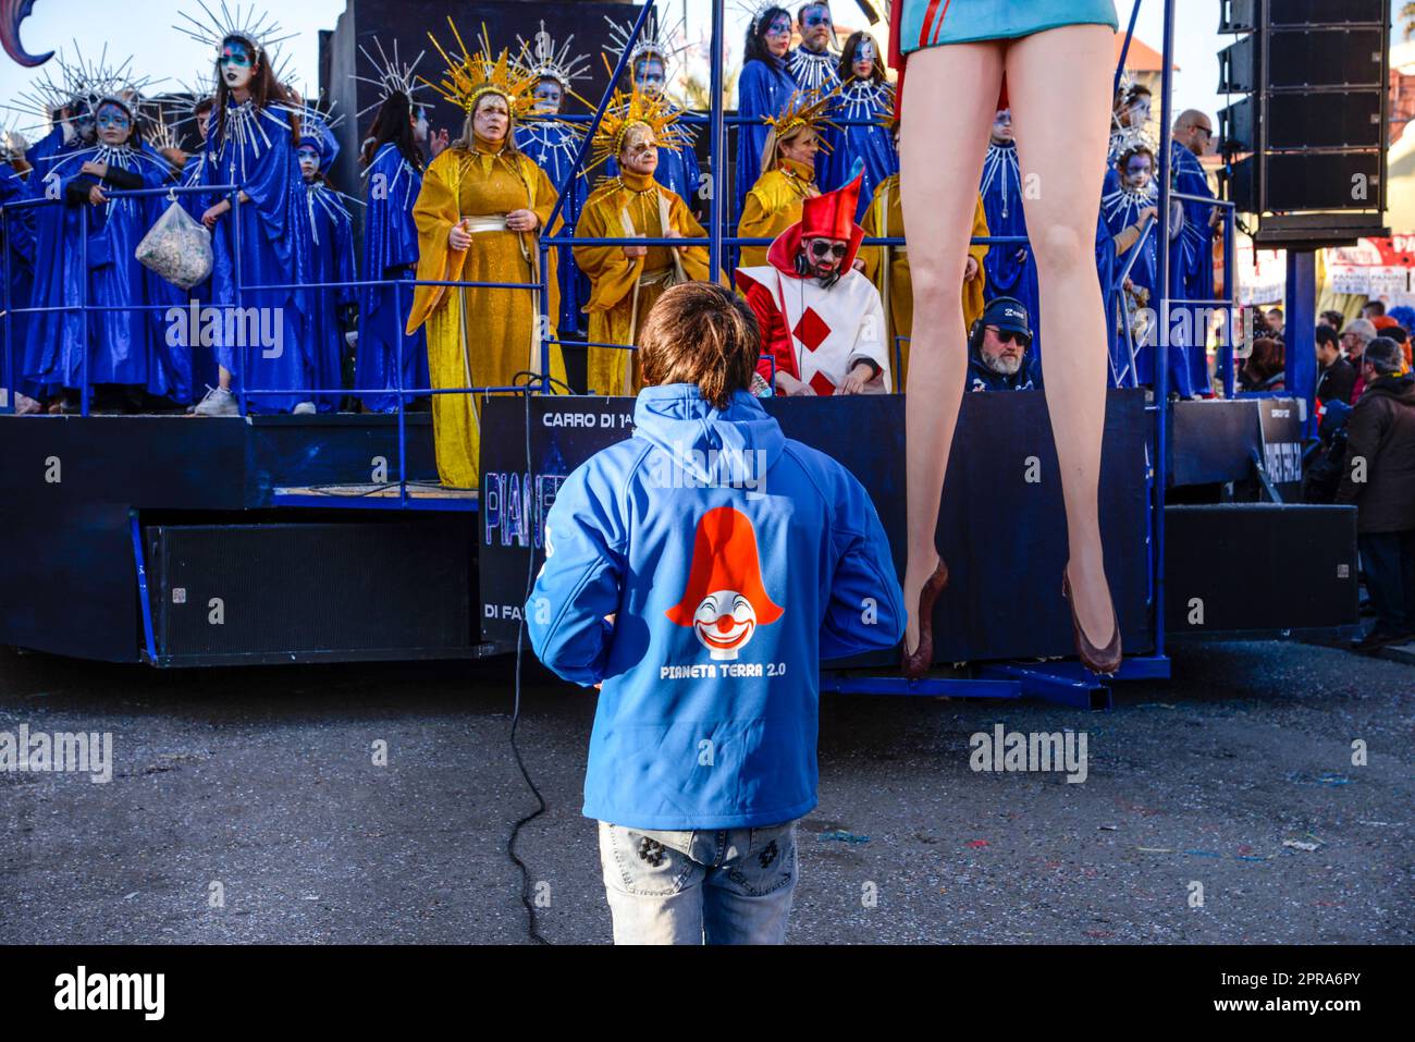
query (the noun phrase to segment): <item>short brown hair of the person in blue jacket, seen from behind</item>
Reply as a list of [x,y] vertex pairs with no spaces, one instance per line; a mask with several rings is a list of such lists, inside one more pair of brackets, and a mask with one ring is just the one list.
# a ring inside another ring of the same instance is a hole
[[638,348],[644,384],[696,384],[703,401],[726,409],[751,387],[761,331],[747,302],[724,286],[685,282],[658,299]]

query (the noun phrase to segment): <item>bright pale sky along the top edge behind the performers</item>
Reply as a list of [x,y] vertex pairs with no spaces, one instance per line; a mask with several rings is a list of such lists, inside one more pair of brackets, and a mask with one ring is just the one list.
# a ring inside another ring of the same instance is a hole
[[[259,1],[259,0],[258,0]],[[874,0],[883,6],[884,0]],[[1129,17],[1133,0],[1116,0],[1121,24]],[[219,8],[219,0],[208,6]],[[245,6],[245,0],[242,0]],[[791,7],[795,6],[792,0]],[[853,0],[832,0],[832,11],[839,25],[863,27],[865,20]],[[1392,0],[1392,8],[1395,0]],[[296,75],[314,85],[318,79],[318,30],[334,28],[344,10],[344,0],[297,0],[297,3],[270,4],[279,11],[279,20],[286,31],[297,37],[286,44],[293,59]],[[686,13],[688,33],[696,38],[706,31],[710,21],[710,6],[706,0],[664,0],[662,10],[676,20]],[[178,11],[200,13],[191,0],[35,0],[34,13],[21,30],[24,45],[31,52],[64,48],[72,50],[76,37],[85,57],[96,58],[105,42],[109,57],[134,57],[134,68],[153,78],[188,81],[198,68],[211,61],[211,52],[171,28]],[[1155,50],[1162,42],[1160,0],[1140,0],[1140,17],[1136,33]],[[746,30],[746,16],[737,0],[729,0],[727,34],[729,54],[740,55],[741,38]],[[1228,37],[1217,34],[1218,0],[1177,0],[1176,6],[1176,62],[1180,72],[1174,82],[1176,110],[1184,108],[1204,109],[1213,113],[1224,105],[1214,91],[1218,79],[1217,51],[1230,42]],[[550,27],[555,33],[555,27]],[[13,99],[33,78],[0,55],[0,99]]]

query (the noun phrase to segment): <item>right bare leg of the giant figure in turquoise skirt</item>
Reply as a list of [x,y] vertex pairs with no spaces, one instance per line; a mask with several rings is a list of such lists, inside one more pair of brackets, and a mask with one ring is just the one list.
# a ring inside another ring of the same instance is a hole
[[1041,365],[1061,464],[1071,590],[1081,629],[1097,647],[1115,633],[1097,507],[1107,348],[1095,272],[1112,45],[1104,25],[1065,25],[1017,40],[1006,55],[1023,184],[1036,178],[1023,208],[1046,321]]

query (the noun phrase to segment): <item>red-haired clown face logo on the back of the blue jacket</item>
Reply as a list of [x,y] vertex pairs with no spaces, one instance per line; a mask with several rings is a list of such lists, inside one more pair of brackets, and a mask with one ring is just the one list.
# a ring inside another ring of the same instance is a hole
[[771,626],[781,614],[763,585],[751,521],[732,507],[708,511],[698,522],[683,596],[668,617],[691,627],[715,661],[730,663],[757,626]]

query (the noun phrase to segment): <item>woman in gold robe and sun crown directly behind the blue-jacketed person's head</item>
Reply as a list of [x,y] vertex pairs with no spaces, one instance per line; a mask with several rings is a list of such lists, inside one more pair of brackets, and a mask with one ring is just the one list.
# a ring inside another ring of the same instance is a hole
[[[576,236],[586,239],[706,239],[708,232],[688,211],[688,204],[665,188],[654,173],[661,149],[683,146],[675,120],[678,110],[662,96],[616,93],[591,142],[594,163],[610,159],[618,174],[604,178],[590,193]],[[576,246],[574,262],[590,279],[590,394],[637,395],[642,387],[638,333],[649,309],[681,282],[709,282],[706,246]],[[623,344],[625,347],[594,347]]]

